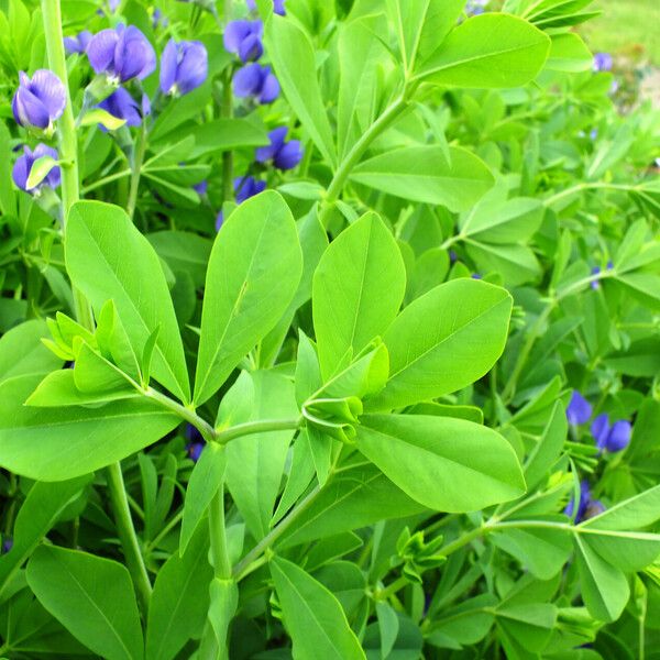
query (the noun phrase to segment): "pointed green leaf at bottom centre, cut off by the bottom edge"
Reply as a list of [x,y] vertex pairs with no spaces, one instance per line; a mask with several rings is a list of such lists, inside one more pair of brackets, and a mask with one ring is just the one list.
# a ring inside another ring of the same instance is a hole
[[294,642],[294,660],[366,658],[339,601],[322,584],[279,557],[270,566],[285,626]]

